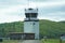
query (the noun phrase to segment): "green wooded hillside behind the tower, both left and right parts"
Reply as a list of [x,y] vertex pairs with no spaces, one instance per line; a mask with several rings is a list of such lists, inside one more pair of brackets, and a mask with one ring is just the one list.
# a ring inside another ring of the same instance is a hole
[[[58,38],[65,33],[65,24],[63,23],[41,19],[39,24],[40,35],[42,37]],[[9,32],[23,32],[23,22],[0,24],[0,37],[5,37]]]

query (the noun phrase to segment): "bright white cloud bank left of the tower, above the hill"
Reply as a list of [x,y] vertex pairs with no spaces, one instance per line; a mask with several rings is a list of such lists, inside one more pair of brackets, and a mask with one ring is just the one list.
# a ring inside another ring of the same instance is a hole
[[24,5],[9,5],[0,9],[0,23],[11,23],[24,19]]

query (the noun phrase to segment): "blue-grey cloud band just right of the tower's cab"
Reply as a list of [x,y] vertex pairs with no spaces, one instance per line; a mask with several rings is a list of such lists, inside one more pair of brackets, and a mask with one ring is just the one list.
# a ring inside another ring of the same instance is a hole
[[[40,13],[41,12],[41,13]],[[39,9],[39,13],[40,14],[44,14],[44,15],[48,15],[50,13],[58,13],[58,12],[62,12],[64,13],[65,12],[65,5],[55,5],[55,6],[46,6],[46,8],[40,8]]]

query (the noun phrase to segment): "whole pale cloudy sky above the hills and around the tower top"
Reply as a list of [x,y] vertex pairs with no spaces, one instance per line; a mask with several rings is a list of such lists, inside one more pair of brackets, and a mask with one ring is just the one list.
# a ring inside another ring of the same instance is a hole
[[39,19],[65,20],[65,0],[0,0],[0,23],[24,20],[29,6],[38,9]]

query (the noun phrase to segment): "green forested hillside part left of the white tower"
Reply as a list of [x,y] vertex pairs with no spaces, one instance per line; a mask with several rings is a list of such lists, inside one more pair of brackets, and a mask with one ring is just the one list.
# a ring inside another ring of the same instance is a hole
[[0,24],[0,37],[5,37],[10,32],[23,32],[23,22]]

